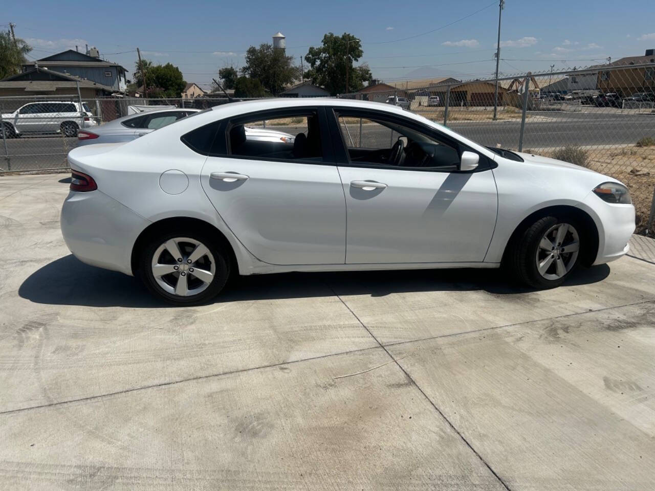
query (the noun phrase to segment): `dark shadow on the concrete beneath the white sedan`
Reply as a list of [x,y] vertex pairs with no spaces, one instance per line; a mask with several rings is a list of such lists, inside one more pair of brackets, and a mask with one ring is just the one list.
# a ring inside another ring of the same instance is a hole
[[[579,268],[565,285],[596,283],[607,278],[607,264]],[[486,291],[517,295],[533,289],[508,280],[497,269],[432,269],[280,273],[234,278],[210,303],[370,295],[426,291]],[[40,304],[92,307],[153,308],[170,306],[156,299],[141,282],[125,274],[88,266],[67,255],[33,272],[18,289],[20,297]]]

